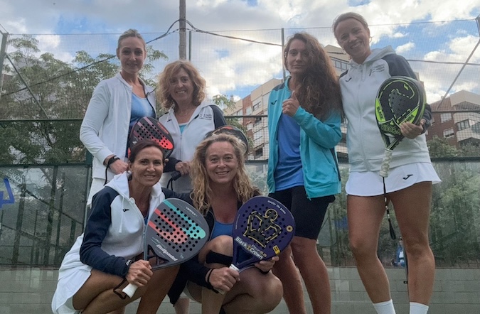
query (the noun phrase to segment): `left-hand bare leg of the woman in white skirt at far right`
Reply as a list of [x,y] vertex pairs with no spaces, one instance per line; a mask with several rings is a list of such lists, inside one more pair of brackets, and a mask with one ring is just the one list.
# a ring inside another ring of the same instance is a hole
[[373,303],[389,301],[390,283],[377,256],[380,223],[385,215],[383,196],[348,195],[348,238],[358,274]]

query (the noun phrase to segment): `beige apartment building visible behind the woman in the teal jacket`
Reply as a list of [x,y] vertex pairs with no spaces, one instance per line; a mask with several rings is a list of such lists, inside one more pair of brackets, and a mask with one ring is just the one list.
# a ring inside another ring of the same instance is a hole
[[[326,45],[324,47],[329,53],[331,63],[334,65],[336,72],[340,75],[348,70],[349,58],[341,48]],[[250,161],[265,160],[268,158],[268,129],[267,129],[267,112],[268,98],[273,87],[282,83],[283,80],[272,78],[264,84],[252,90],[250,95],[235,102],[234,107],[225,109],[225,116],[239,116],[238,123],[242,124],[247,130],[247,136],[250,139],[250,150],[248,159]],[[232,119],[232,118],[230,118]],[[336,151],[339,158],[346,158],[346,125],[342,124],[342,140],[337,145]]]

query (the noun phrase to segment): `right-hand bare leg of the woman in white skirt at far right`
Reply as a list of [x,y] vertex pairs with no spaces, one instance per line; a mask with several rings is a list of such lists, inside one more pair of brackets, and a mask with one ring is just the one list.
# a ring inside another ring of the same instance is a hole
[[425,305],[430,303],[435,275],[435,260],[428,240],[431,197],[430,182],[390,194],[407,252],[410,302]]

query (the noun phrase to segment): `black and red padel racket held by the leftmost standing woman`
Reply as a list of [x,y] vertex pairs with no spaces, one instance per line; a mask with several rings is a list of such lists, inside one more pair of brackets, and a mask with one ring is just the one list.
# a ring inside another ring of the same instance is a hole
[[130,131],[129,154],[133,146],[142,140],[156,141],[164,149],[164,158],[169,158],[174,151],[174,139],[163,124],[151,117],[143,117],[137,121]]

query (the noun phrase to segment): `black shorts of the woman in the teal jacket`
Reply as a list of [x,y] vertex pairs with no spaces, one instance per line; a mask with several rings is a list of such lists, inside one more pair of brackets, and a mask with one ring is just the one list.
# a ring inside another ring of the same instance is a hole
[[335,196],[306,197],[303,185],[269,194],[287,207],[295,219],[295,236],[308,239],[319,237],[321,224],[324,222],[326,209]]

